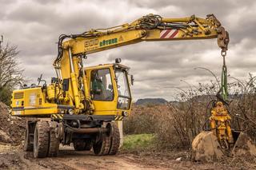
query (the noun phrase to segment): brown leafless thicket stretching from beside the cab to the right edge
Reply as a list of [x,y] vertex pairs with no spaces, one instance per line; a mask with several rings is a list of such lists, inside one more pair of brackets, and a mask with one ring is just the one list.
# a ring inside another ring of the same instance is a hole
[[[242,130],[256,142],[256,77],[248,81],[230,77],[228,89],[232,128]],[[194,137],[209,129],[210,108],[217,97],[219,82],[198,83],[178,89],[176,102],[154,107],[136,106],[125,122],[126,133],[153,133],[158,148],[190,148]]]

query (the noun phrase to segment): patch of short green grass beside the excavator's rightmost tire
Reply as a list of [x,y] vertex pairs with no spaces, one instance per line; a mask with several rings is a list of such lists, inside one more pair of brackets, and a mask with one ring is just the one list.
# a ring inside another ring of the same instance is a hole
[[124,136],[122,151],[141,152],[154,148],[154,134],[135,134]]

